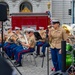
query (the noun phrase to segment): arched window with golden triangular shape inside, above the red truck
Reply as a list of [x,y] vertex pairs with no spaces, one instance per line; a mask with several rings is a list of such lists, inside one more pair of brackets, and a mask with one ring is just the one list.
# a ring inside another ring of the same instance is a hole
[[20,12],[32,12],[32,4],[27,1],[21,3]]

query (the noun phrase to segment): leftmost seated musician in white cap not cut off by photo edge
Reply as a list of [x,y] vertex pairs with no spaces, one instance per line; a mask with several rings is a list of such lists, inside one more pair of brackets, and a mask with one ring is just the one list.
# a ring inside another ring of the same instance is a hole
[[[12,32],[12,27],[7,28],[7,34],[5,35],[5,43],[4,43],[4,50],[6,54],[11,58],[11,50],[12,48],[16,47],[16,44],[14,43],[15,34]],[[16,38],[16,37],[15,37]]]

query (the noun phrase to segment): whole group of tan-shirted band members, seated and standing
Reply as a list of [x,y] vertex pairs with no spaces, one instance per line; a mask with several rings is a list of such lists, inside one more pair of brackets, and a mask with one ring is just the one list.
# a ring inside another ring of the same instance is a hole
[[[4,34],[3,50],[11,59],[15,60],[14,65],[19,67],[22,66],[21,59],[23,54],[36,51],[36,57],[39,55],[40,57],[45,57],[46,47],[50,47],[55,71],[62,70],[61,41],[69,41],[68,33],[60,26],[60,22],[53,20],[52,25],[47,26],[47,30],[44,30],[44,27],[39,27],[38,33],[42,39],[36,40],[37,37],[35,37],[34,33],[35,30],[32,28],[25,29],[22,32],[19,27],[15,27],[14,31],[12,27],[8,27],[7,33]],[[2,39],[0,37],[0,47],[2,47],[1,42]],[[35,46],[37,46],[36,50]],[[40,47],[42,47],[42,55],[40,54]]]

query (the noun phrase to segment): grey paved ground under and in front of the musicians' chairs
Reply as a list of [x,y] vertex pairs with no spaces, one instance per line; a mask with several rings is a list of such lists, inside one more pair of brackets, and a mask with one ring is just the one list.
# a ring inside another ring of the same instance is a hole
[[[41,57],[38,56],[36,58],[36,63],[37,63],[37,67],[34,63],[32,55],[31,55],[31,59],[30,59],[30,56],[24,55],[23,60],[22,60],[23,66],[18,67],[18,69],[22,73],[22,75],[47,75],[47,55],[46,55],[46,57],[44,57],[43,68],[41,67],[42,66],[42,58]],[[49,75],[52,73],[51,67],[52,67],[52,62],[50,60],[49,61],[49,68],[50,68]],[[17,72],[17,70],[16,70],[16,72]],[[17,72],[17,75],[20,75],[20,74]]]

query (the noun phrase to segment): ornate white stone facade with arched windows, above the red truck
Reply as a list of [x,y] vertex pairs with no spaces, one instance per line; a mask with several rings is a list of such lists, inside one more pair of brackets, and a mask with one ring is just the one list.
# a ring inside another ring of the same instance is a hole
[[19,12],[46,12],[49,0],[0,0],[5,2],[9,7],[9,13]]

